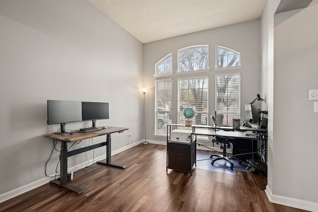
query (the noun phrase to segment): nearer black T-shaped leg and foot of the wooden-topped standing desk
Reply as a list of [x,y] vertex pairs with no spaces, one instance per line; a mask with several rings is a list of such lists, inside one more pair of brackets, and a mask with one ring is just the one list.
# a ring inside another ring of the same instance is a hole
[[71,184],[68,184],[68,147],[66,141],[61,141],[61,152],[60,152],[60,180],[52,180],[51,183],[59,185],[63,188],[69,189],[81,194],[84,192],[83,189],[75,187]]

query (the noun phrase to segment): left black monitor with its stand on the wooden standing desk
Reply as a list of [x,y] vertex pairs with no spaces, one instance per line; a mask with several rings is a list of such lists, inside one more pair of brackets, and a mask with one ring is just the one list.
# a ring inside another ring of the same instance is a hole
[[81,122],[81,102],[47,100],[48,125],[61,124],[61,134],[69,122]]

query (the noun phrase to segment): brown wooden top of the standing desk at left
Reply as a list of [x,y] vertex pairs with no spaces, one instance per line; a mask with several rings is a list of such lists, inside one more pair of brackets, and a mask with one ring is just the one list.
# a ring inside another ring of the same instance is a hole
[[74,134],[66,133],[63,135],[60,134],[55,134],[55,133],[50,133],[50,134],[45,134],[43,137],[49,138],[49,139],[55,139],[55,140],[60,140],[60,141],[81,141],[84,139],[90,139],[98,136],[104,136],[104,135],[109,135],[112,133],[117,133],[117,132],[122,132],[125,130],[129,130],[129,128],[122,128],[122,127],[109,127],[107,129],[102,129],[102,130],[96,130],[88,133],[82,133],[82,132],[77,132]]

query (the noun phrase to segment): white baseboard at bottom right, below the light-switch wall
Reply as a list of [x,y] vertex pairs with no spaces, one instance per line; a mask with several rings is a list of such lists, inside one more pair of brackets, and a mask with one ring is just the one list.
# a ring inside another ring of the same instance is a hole
[[273,195],[272,191],[269,189],[268,186],[266,186],[265,193],[267,195],[267,198],[269,202],[288,206],[296,209],[311,211],[311,212],[318,212],[318,203],[309,202],[305,200],[299,200],[295,198],[290,197],[284,197],[279,195]]

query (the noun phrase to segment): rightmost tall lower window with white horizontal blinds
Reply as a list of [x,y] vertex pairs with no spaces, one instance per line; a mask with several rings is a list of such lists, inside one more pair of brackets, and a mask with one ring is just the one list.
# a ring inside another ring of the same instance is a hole
[[233,119],[239,118],[239,73],[216,75],[215,91],[215,108],[217,110],[217,123],[220,125],[232,126]]

